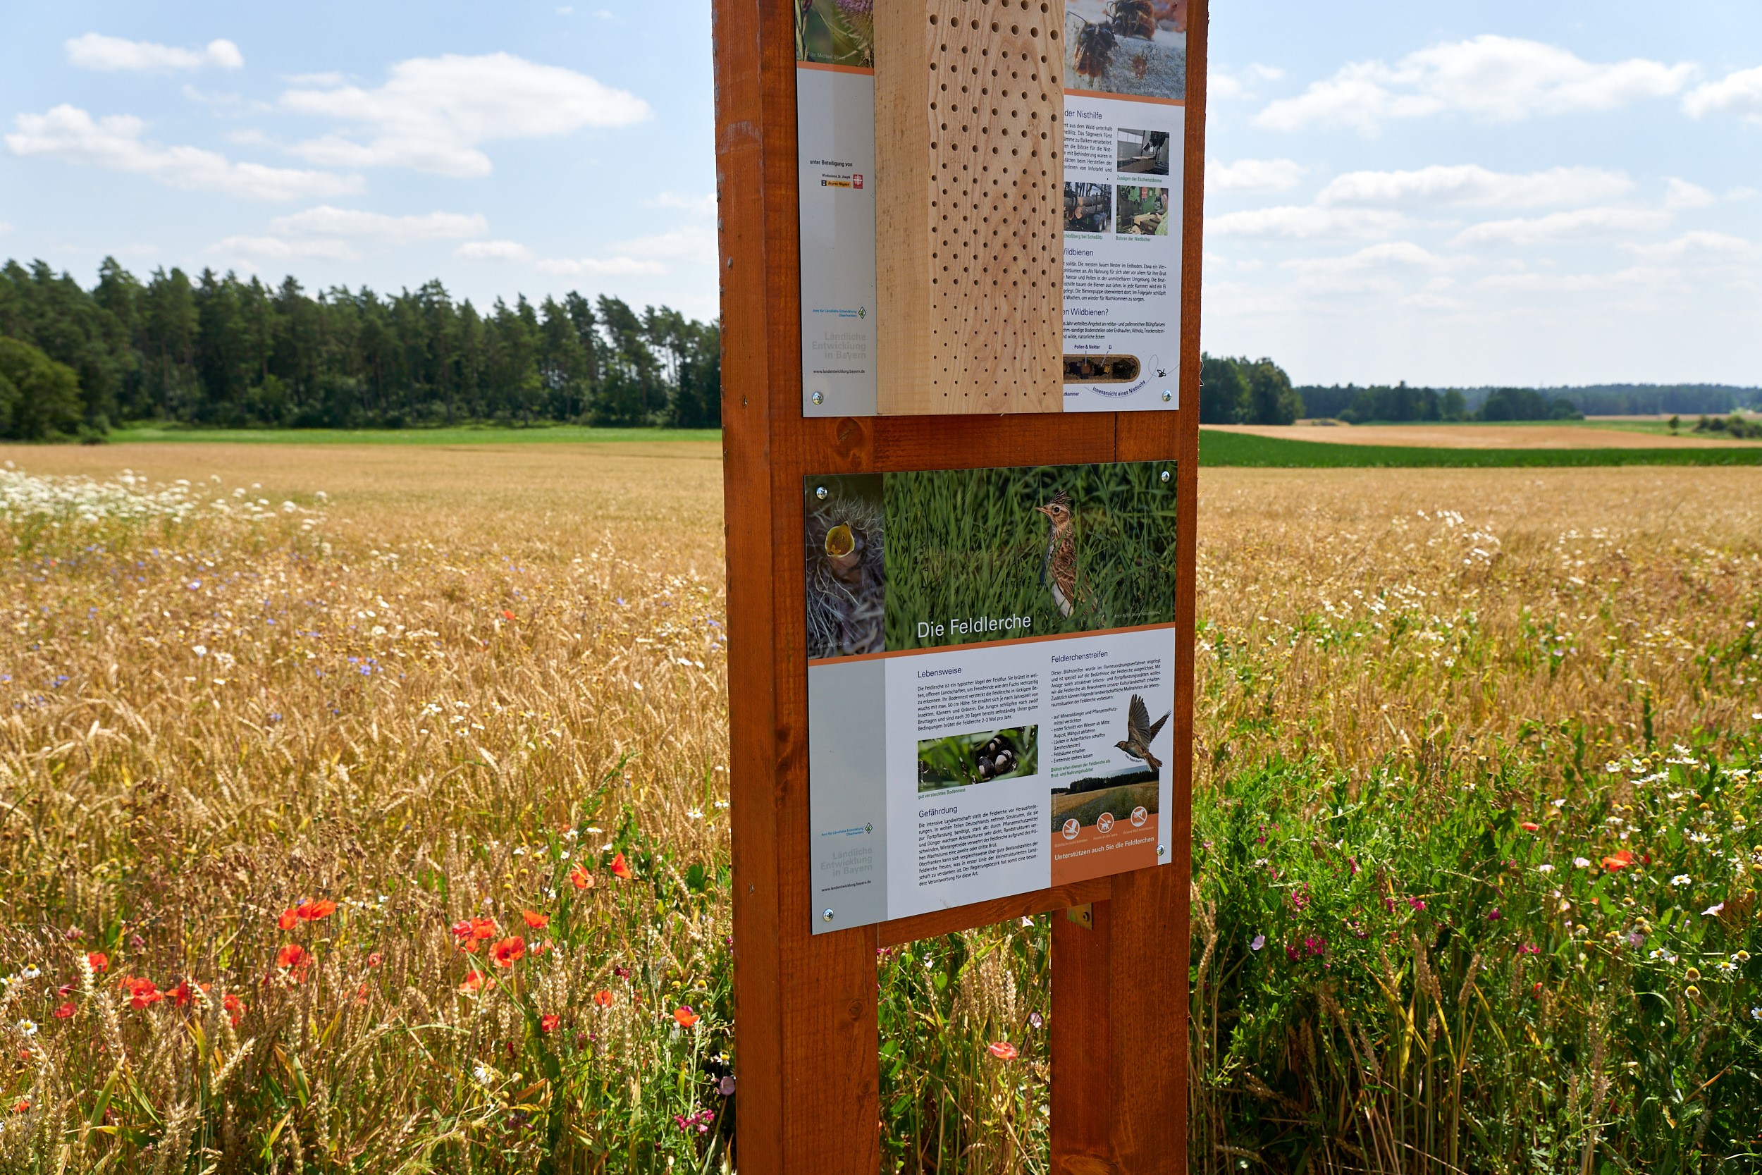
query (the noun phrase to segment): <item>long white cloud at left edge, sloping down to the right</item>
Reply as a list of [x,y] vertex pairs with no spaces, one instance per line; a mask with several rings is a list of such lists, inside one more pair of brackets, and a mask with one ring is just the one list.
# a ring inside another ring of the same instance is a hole
[[146,123],[129,115],[93,120],[76,106],[56,106],[46,115],[19,115],[12,123],[18,132],[9,134],[5,144],[14,155],[144,174],[190,192],[284,201],[361,190],[359,176],[236,164],[226,155],[196,146],[146,143],[141,137]]

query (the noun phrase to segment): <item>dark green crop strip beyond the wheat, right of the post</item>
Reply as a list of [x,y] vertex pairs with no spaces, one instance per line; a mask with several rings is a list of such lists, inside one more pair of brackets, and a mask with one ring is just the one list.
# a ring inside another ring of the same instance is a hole
[[1327,444],[1200,430],[1200,465],[1256,469],[1586,469],[1596,465],[1762,465],[1753,449],[1431,449]]

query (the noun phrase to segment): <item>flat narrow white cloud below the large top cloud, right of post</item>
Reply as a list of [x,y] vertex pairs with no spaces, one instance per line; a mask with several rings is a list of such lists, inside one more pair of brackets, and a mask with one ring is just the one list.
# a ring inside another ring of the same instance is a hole
[[1348,171],[1316,196],[1318,204],[1380,204],[1397,208],[1535,208],[1582,204],[1625,196],[1633,181],[1619,171],[1551,167],[1514,174],[1475,164],[1418,171]]

